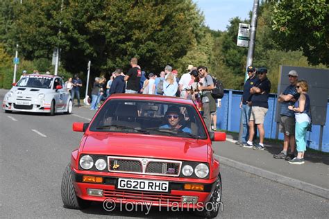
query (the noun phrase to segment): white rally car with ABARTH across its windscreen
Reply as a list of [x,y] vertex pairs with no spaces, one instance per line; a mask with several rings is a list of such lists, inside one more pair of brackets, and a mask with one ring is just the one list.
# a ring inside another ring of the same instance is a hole
[[62,78],[32,74],[21,78],[3,98],[5,112],[57,112],[71,114],[72,100]]

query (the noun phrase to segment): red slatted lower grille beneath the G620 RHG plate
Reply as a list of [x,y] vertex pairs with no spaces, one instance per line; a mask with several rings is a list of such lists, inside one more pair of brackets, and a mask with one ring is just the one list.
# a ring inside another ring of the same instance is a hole
[[182,200],[182,197],[180,195],[123,190],[104,190],[104,197],[111,198],[112,200],[124,200],[128,202],[152,202],[153,204],[158,205],[170,205],[173,202],[180,203]]

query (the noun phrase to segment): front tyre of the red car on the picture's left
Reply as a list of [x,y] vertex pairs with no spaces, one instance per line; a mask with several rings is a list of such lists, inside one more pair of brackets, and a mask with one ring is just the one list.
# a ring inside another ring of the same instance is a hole
[[67,209],[85,209],[91,204],[90,201],[82,200],[76,196],[76,191],[74,190],[72,181],[71,164],[67,165],[65,168],[60,192],[64,207]]

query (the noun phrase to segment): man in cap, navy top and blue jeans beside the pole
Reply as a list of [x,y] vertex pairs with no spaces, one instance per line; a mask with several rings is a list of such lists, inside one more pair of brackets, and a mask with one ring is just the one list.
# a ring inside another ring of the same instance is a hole
[[255,86],[255,84],[258,82],[258,78],[256,77],[256,69],[253,66],[249,66],[247,68],[247,73],[249,78],[244,83],[244,93],[241,97],[240,102],[240,109],[242,109],[242,124],[243,124],[243,133],[242,133],[242,139],[239,139],[236,144],[243,146],[246,141],[248,141],[249,137],[249,118],[251,114],[251,106],[249,103],[251,103],[251,96],[250,93],[251,87]]

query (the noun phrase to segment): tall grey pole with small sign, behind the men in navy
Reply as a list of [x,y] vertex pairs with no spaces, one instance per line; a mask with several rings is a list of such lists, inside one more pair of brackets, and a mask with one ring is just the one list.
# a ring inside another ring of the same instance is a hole
[[[255,51],[255,38],[256,38],[256,29],[257,29],[257,16],[258,16],[258,6],[260,4],[260,0],[253,1],[253,14],[251,16],[251,33],[250,33],[250,41],[248,44],[248,56],[246,62],[246,70],[248,66],[253,65],[253,54]],[[248,73],[245,71],[244,82],[248,79]],[[241,112],[241,119],[240,119],[240,129],[239,129],[239,139],[238,141],[242,140],[242,132],[243,132],[243,124],[242,124],[242,112]]]

